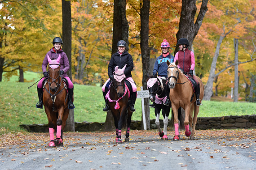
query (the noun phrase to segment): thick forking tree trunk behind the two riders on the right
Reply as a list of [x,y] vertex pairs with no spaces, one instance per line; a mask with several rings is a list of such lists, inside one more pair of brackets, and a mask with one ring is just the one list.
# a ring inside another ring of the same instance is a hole
[[[177,41],[180,38],[187,38],[191,47],[194,38],[202,25],[203,17],[208,10],[207,3],[208,0],[202,0],[199,15],[194,22],[197,10],[196,0],[182,0],[179,30],[176,34]],[[177,51],[179,51],[179,47],[175,48],[174,54],[176,54]]]

